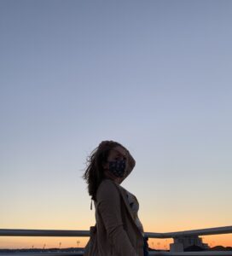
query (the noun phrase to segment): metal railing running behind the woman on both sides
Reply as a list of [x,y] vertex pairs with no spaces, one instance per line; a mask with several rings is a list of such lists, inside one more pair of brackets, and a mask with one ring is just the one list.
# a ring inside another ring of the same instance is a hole
[[[222,235],[222,234],[232,234],[232,226],[201,229],[201,230],[185,230],[177,232],[167,232],[167,233],[154,233],[145,232],[145,236],[148,238],[172,238],[174,240],[173,250],[170,252],[162,251],[150,251],[149,255],[169,255],[169,256],[199,256],[199,255],[213,255],[213,256],[232,256],[232,251],[202,251],[202,252],[183,252],[175,251],[175,245],[177,245],[180,238],[198,237],[198,236],[208,236],[208,235]],[[68,237],[84,237],[90,236],[89,230],[12,230],[12,229],[0,229],[0,236],[68,236]],[[20,254],[20,253],[19,253]],[[83,253],[43,253],[43,255],[83,255]],[[0,253],[1,255],[1,253]],[[41,253],[32,253],[30,255],[41,255]]]

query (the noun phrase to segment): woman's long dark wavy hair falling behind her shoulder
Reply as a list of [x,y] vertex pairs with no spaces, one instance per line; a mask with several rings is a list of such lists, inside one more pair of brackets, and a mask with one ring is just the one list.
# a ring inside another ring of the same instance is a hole
[[94,201],[96,201],[96,190],[100,183],[102,183],[102,180],[106,177],[102,164],[107,162],[110,150],[117,146],[125,148],[117,142],[102,141],[102,143],[100,143],[98,147],[95,148],[89,156],[87,156],[87,167],[84,170],[82,177],[86,180],[89,195]]

